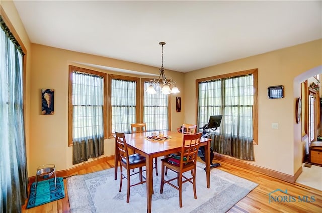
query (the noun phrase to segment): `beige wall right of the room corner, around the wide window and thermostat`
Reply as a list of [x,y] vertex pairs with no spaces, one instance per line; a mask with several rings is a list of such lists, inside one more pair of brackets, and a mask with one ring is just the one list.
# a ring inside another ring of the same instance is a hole
[[[250,163],[294,175],[302,157],[301,125],[295,122],[295,100],[300,97],[301,80],[307,79],[303,73],[320,65],[322,40],[317,40],[186,73],[185,93],[195,94],[195,86],[191,85],[195,85],[196,79],[257,68],[259,141],[254,148],[255,162]],[[284,98],[267,98],[267,87],[275,85],[284,86]],[[196,122],[194,97],[184,100],[185,120],[190,123]],[[279,129],[272,129],[272,123],[279,123]]]

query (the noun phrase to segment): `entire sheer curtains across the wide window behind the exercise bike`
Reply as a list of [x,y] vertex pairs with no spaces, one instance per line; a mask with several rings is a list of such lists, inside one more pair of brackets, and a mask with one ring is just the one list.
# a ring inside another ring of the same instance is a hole
[[214,151],[254,160],[252,75],[199,83],[198,106],[199,127],[210,115],[223,115],[220,127],[210,130]]

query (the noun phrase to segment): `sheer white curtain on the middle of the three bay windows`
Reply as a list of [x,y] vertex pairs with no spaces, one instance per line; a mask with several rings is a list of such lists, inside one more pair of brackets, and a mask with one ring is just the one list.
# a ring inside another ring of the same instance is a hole
[[136,82],[112,79],[112,132],[131,133],[136,123]]

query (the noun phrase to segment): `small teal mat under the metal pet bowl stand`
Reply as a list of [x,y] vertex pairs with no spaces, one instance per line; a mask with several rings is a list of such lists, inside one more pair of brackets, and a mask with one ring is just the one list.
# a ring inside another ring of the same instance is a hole
[[35,183],[32,183],[27,209],[64,198],[65,187],[63,178],[57,177],[56,182],[57,189],[55,188],[54,178],[37,182],[37,193],[35,193]]

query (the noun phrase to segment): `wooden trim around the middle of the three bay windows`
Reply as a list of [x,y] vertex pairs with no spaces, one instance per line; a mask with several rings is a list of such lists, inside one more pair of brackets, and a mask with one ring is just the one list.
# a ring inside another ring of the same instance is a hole
[[118,79],[118,80],[127,80],[127,81],[135,81],[136,82],[136,121],[139,121],[140,119],[140,96],[139,96],[139,91],[140,91],[140,78],[136,77],[130,77],[130,76],[124,76],[124,75],[114,75],[114,74],[108,74],[108,90],[107,90],[107,104],[108,104],[108,138],[114,138],[113,133],[112,133],[112,106],[111,106],[111,93],[112,93],[112,79]]

